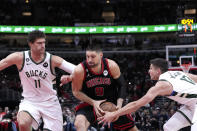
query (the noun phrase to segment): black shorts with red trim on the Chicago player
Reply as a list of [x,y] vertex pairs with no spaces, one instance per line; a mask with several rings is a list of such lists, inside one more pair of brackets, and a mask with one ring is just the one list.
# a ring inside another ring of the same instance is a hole
[[[91,125],[97,122],[96,112],[93,109],[93,106],[82,103],[76,108],[76,115],[84,115]],[[113,128],[117,130],[128,130],[135,126],[134,120],[131,115],[120,116],[117,121],[112,122]]]

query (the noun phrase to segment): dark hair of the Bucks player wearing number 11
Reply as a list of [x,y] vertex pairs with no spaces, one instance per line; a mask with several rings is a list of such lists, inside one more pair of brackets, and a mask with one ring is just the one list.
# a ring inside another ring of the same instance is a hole
[[38,38],[46,38],[46,35],[44,32],[40,30],[34,30],[32,32],[29,32],[28,37],[27,37],[27,42],[34,43],[36,39]]

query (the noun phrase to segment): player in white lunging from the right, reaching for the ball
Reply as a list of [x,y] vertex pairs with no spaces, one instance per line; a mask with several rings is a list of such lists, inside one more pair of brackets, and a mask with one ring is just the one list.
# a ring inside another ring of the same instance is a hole
[[197,130],[197,75],[182,71],[168,71],[166,60],[156,58],[150,61],[149,74],[152,80],[158,80],[145,96],[137,101],[128,103],[123,108],[113,113],[106,112],[100,117],[99,123],[108,124],[121,115],[138,110],[151,102],[156,96],[166,96],[183,106],[164,124],[164,131],[178,131],[190,126],[191,130]]

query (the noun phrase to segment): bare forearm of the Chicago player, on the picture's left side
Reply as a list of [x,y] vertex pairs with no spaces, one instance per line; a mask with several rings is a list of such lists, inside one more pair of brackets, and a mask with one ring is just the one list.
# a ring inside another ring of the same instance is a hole
[[93,105],[94,100],[91,99],[90,97],[88,97],[88,96],[87,96],[86,94],[84,94],[83,92],[81,92],[81,91],[73,91],[73,95],[74,95],[77,99],[79,99],[79,100],[81,100],[81,101],[83,101],[83,102],[86,102],[86,103],[88,103],[88,104],[90,104],[90,105]]

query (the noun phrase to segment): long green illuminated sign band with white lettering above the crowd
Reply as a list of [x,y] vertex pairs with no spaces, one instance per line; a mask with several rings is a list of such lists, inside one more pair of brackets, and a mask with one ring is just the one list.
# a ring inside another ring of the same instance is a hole
[[[7,26],[0,25],[0,33],[28,33],[41,30],[49,34],[111,34],[111,33],[154,33],[182,30],[181,25],[147,25],[147,26],[94,26],[94,27],[59,27],[59,26]],[[197,30],[197,24],[192,24]]]

